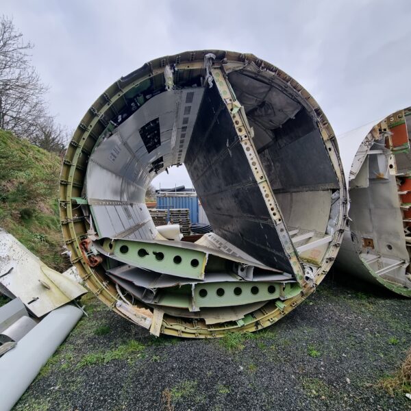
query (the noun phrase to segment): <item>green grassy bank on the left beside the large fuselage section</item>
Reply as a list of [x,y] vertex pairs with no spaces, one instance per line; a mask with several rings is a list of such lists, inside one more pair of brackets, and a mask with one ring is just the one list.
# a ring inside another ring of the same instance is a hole
[[60,158],[0,130],[0,227],[58,271],[69,266],[58,216]]

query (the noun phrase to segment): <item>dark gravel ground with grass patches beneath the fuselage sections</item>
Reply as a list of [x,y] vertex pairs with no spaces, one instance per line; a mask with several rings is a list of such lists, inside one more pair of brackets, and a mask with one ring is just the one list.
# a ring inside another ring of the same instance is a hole
[[14,410],[411,410],[376,386],[411,346],[411,300],[354,281],[330,274],[277,324],[223,340],[153,338],[86,296]]

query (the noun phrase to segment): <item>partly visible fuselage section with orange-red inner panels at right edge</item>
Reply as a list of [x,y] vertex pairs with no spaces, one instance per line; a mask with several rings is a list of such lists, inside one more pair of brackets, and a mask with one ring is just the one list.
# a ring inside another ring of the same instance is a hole
[[349,186],[342,271],[411,297],[411,107],[338,136]]

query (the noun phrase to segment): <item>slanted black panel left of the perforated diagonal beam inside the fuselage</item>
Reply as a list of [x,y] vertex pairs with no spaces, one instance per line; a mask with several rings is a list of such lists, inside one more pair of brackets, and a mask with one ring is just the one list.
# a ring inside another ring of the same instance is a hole
[[213,231],[267,266],[292,273],[215,85],[204,92],[184,164]]

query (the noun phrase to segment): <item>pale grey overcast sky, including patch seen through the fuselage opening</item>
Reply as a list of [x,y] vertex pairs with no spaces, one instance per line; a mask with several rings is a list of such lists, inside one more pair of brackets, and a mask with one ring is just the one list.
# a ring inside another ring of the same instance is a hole
[[[309,90],[341,134],[411,105],[411,1],[1,0],[34,43],[51,111],[75,128],[121,75],[162,55],[227,49]],[[155,185],[186,184],[183,168]]]

